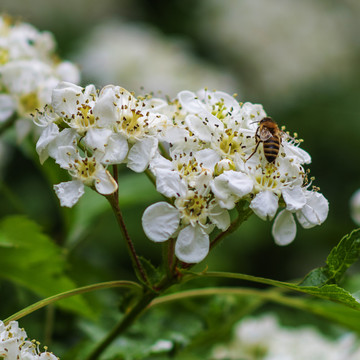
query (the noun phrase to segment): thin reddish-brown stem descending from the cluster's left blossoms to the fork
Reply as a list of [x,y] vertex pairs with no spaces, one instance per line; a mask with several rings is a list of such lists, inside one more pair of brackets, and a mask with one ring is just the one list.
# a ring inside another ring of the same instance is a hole
[[118,222],[118,225],[120,227],[120,231],[125,239],[125,243],[126,243],[126,246],[127,246],[127,249],[128,249],[128,252],[129,252],[129,255],[130,255],[130,258],[131,258],[131,261],[133,263],[133,267],[135,269],[135,272],[136,274],[138,274],[140,276],[140,279],[139,280],[142,280],[145,284],[149,284],[149,280],[146,276],[146,273],[145,273],[145,270],[143,269],[141,263],[140,263],[140,260],[139,260],[139,257],[137,256],[136,254],[136,251],[135,251],[135,247],[134,247],[134,244],[133,242],[131,241],[131,238],[130,238],[130,235],[126,229],[126,226],[125,226],[125,222],[124,222],[124,218],[122,216],[122,213],[121,213],[121,210],[120,210],[120,207],[119,207],[119,201],[118,201],[118,191],[115,191],[113,194],[110,194],[108,196],[106,196],[107,200],[109,201],[113,211],[114,211],[114,214],[115,214],[115,217],[116,217],[116,220]]

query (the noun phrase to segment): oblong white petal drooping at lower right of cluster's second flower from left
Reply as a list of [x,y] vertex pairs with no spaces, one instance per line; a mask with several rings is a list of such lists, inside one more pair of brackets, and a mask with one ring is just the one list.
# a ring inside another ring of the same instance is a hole
[[149,166],[158,146],[156,138],[148,137],[137,141],[128,154],[128,167],[135,172],[143,172]]

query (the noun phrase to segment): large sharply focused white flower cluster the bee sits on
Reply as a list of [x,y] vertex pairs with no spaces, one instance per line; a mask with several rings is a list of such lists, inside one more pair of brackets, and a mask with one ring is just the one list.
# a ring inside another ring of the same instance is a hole
[[150,171],[168,201],[145,210],[146,235],[155,242],[176,239],[176,256],[197,263],[209,252],[210,233],[229,228],[229,211],[240,201],[263,220],[276,216],[272,234],[280,245],[295,238],[295,217],[304,228],[327,217],[327,200],[309,190],[303,168],[309,154],[270,118],[276,132],[264,126],[259,132],[264,118],[261,105],[220,91],[182,91],[166,102],[119,86],[97,92],[60,83],[36,117],[43,127],[37,151],[41,162],[50,156],[71,174],[73,180],[55,185],[68,207],[84,186],[103,195],[117,190],[109,165]]

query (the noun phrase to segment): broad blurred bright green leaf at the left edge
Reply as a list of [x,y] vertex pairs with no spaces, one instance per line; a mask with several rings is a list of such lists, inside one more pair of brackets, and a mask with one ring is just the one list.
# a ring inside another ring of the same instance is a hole
[[[63,250],[23,216],[9,216],[0,222],[0,277],[48,297],[76,287],[65,274]],[[83,316],[92,311],[79,296],[59,305]]]

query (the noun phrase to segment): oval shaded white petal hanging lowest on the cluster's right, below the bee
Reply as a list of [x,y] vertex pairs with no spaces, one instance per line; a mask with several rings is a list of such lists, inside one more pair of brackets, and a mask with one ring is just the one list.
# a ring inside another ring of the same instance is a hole
[[272,236],[278,245],[288,245],[296,235],[296,223],[293,214],[286,209],[280,211],[276,216],[273,227]]

